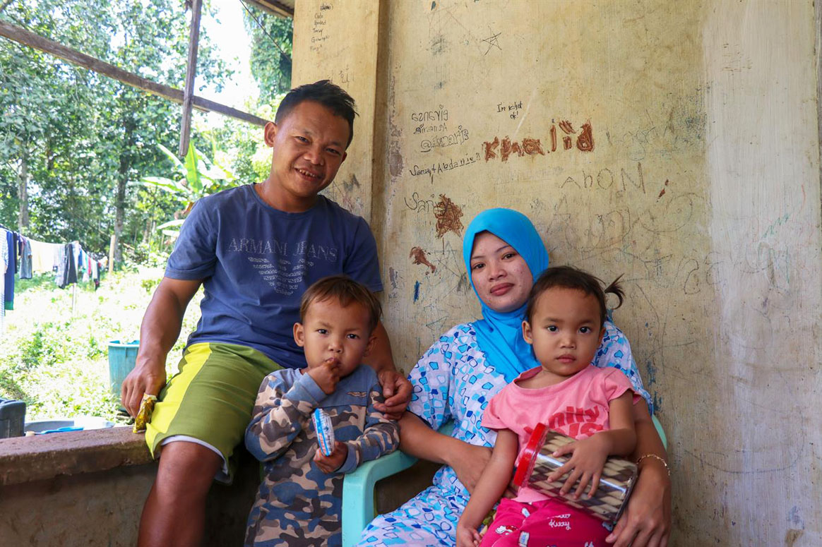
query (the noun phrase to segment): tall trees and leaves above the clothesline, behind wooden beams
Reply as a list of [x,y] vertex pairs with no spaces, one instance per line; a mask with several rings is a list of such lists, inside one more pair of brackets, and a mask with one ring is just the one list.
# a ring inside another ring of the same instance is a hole
[[[213,15],[215,3],[205,0],[203,9]],[[12,0],[0,7],[3,21],[182,89],[188,44],[182,0]],[[244,108],[271,117],[290,85],[292,23],[247,9],[252,75],[262,91]],[[202,28],[199,89],[219,90],[232,75]],[[172,241],[156,227],[180,216],[178,202],[138,181],[173,173],[157,145],[178,148],[180,114],[178,104],[0,38],[0,223],[40,241],[80,241],[102,254],[117,233],[118,262],[120,251],[169,251]],[[195,111],[195,145],[210,152],[213,139],[238,182],[265,177],[260,128],[220,121],[206,123]]]

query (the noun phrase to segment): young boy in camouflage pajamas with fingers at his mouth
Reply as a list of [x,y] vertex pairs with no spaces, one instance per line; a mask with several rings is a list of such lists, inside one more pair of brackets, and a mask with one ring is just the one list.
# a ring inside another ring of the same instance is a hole
[[[247,547],[342,545],[344,473],[399,444],[396,422],[374,408],[383,400],[376,373],[361,365],[380,312],[373,293],[345,276],[323,278],[303,294],[293,333],[307,368],[266,376],[246,430],[246,447],[265,468]],[[319,448],[316,408],[334,426],[330,456]]]

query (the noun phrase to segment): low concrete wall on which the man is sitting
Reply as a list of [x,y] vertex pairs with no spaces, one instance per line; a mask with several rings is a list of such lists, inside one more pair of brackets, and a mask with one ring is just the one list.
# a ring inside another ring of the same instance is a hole
[[[260,485],[259,463],[240,447],[233,485],[212,486],[204,547],[242,545]],[[376,508],[393,510],[431,484],[418,462],[376,485]],[[136,545],[157,464],[131,427],[0,440],[0,545]],[[349,500],[350,502],[351,500]]]

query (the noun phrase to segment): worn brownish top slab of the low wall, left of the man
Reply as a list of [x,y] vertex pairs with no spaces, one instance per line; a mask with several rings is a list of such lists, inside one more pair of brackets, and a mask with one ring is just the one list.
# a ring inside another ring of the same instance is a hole
[[108,471],[151,461],[145,436],[132,433],[130,425],[2,439],[0,485]]

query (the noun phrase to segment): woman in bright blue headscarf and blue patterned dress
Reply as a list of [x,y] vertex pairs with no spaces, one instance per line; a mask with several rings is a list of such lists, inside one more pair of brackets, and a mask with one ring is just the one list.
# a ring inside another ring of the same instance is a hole
[[[521,334],[533,282],[548,266],[538,232],[524,214],[488,209],[465,232],[463,258],[483,319],[458,324],[428,349],[411,372],[413,396],[400,424],[400,448],[446,464],[434,485],[394,513],[377,517],[363,532],[363,547],[455,545],[456,524],[483,471],[494,432],[480,422],[488,401],[524,370],[537,366]],[[637,450],[646,454],[630,503],[608,541],[617,547],[664,547],[670,531],[670,480],[665,452],[650,419],[649,394],[628,340],[610,321],[594,360],[622,370],[649,402],[635,405]],[[454,421],[451,436],[436,430]]]

